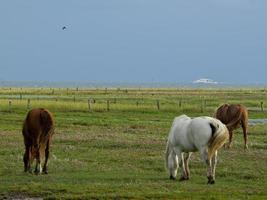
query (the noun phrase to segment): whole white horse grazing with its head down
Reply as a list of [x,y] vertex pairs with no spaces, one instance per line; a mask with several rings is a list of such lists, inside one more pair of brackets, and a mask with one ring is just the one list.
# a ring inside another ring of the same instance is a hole
[[217,150],[223,146],[228,137],[226,126],[215,118],[191,119],[186,115],[176,117],[169,133],[165,157],[170,179],[176,178],[179,166],[182,169],[180,180],[188,180],[189,158],[192,152],[200,151],[203,161],[207,164],[208,184],[215,183]]

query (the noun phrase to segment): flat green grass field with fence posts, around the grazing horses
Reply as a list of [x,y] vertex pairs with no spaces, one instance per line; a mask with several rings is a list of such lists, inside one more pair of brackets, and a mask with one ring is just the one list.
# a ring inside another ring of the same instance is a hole
[[[247,151],[235,131],[233,147],[219,151],[215,185],[198,153],[189,181],[168,178],[173,118],[212,116],[222,103],[267,118],[266,89],[0,88],[0,199],[266,199],[267,124],[249,127]],[[55,116],[48,175],[23,172],[21,128],[33,107]]]

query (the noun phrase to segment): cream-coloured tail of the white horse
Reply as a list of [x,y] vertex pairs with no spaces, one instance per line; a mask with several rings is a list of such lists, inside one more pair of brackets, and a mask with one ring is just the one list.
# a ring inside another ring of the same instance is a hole
[[213,157],[215,152],[224,145],[229,137],[227,127],[221,122],[211,121],[210,128],[212,130],[212,136],[208,144],[208,159]]

